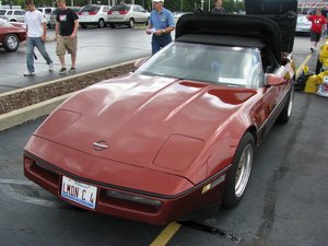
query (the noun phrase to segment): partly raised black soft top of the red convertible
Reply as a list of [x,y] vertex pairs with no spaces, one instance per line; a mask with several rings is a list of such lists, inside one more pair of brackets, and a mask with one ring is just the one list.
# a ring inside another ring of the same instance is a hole
[[280,27],[274,21],[267,17],[257,15],[185,14],[177,22],[175,38],[180,42],[191,42],[188,40],[188,37],[191,37],[189,34],[194,34],[191,36],[194,36],[195,42],[197,42],[195,39],[196,35],[211,35],[212,38],[225,39],[226,45],[238,43],[242,46],[249,46],[249,42],[259,40],[259,43],[266,44],[277,61],[281,61]]

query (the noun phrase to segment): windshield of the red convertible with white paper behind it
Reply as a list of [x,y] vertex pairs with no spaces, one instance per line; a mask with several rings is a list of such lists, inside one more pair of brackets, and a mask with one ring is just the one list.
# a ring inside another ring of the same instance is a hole
[[136,73],[258,87],[263,83],[257,48],[174,42],[152,56]]

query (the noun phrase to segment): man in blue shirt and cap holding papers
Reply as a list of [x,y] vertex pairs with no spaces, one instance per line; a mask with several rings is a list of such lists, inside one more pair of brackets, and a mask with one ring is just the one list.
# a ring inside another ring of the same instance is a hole
[[152,0],[154,10],[150,14],[147,34],[152,36],[152,55],[172,42],[171,32],[175,28],[173,13],[164,8],[164,0]]

